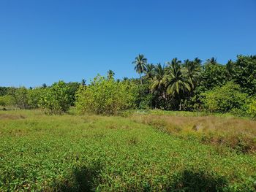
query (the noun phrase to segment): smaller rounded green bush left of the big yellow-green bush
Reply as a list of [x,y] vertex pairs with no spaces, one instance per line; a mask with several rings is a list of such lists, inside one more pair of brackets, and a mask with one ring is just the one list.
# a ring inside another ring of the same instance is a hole
[[67,112],[70,106],[69,87],[67,84],[64,81],[59,81],[45,88],[39,105],[48,110],[50,114],[61,115]]

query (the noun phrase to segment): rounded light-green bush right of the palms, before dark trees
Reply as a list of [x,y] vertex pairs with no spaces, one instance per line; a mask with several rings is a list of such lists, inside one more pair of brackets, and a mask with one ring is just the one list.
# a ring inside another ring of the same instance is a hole
[[241,88],[234,82],[227,82],[211,91],[201,93],[203,104],[209,112],[232,112],[241,110],[248,99],[247,93],[241,93]]

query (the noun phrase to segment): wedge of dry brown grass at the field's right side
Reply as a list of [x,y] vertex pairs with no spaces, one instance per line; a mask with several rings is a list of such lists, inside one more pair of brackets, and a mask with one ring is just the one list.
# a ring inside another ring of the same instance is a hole
[[198,139],[203,143],[225,145],[242,153],[256,152],[256,121],[253,120],[171,115],[132,115],[131,118],[185,139]]

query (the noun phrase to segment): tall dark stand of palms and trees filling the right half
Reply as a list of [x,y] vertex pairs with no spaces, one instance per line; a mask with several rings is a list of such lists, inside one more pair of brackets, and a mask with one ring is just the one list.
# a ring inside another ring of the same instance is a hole
[[[144,85],[144,107],[241,113],[249,110],[256,96],[256,55],[238,55],[227,64],[216,58],[204,64],[199,58],[173,58],[165,65],[148,64],[144,55],[138,55],[133,64]],[[233,102],[222,106],[227,94]]]

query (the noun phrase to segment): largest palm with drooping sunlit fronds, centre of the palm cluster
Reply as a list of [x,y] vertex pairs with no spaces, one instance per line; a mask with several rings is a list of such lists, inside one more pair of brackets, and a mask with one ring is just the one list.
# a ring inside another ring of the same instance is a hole
[[181,91],[185,93],[190,91],[190,86],[181,72],[181,61],[177,58],[173,58],[171,62],[167,62],[167,74],[165,75],[165,82],[167,82],[166,93],[170,96],[180,96],[180,106],[181,110]]

